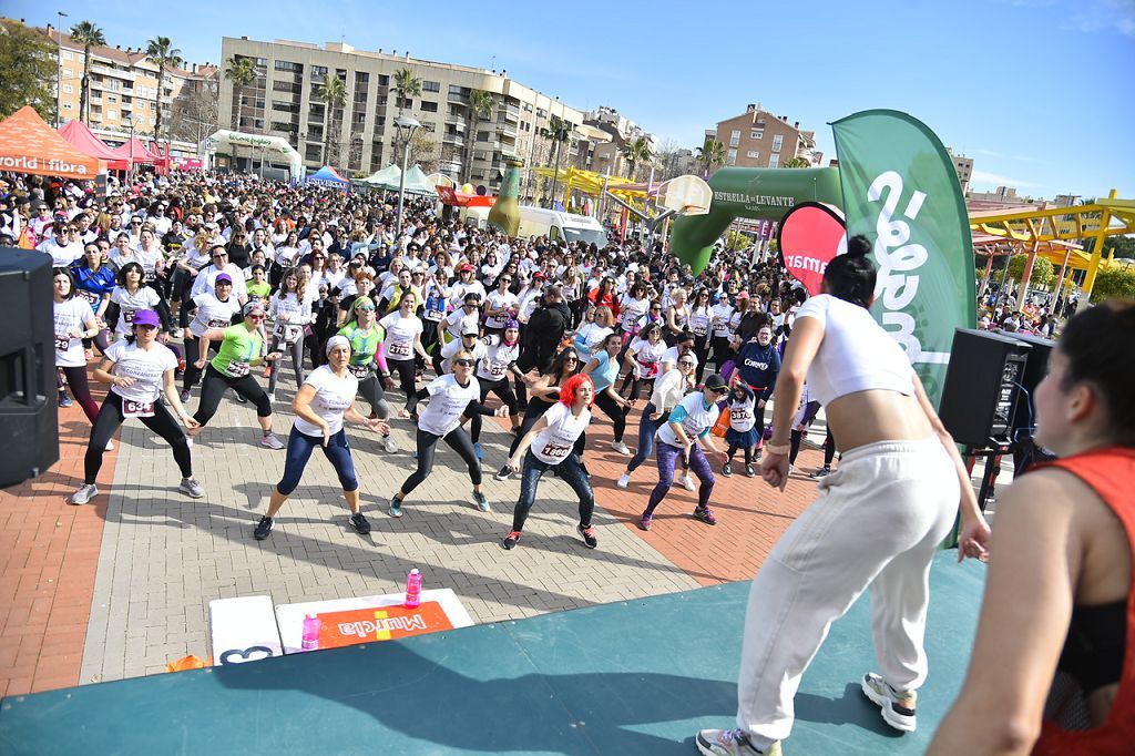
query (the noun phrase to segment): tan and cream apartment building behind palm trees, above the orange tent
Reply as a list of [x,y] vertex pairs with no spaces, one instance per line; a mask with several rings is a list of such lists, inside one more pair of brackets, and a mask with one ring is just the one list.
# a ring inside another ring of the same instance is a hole
[[[59,51],[59,118],[66,123],[79,119],[83,86],[84,49],[67,33],[60,40],[59,30],[40,30]],[[152,136],[161,108],[162,141],[168,136],[174,101],[185,87],[200,87],[215,78],[217,68],[209,64],[192,64],[187,68],[167,68],[159,94],[158,66],[141,49],[119,47],[91,48],[91,87],[86,125],[109,143],[123,143],[133,132]],[[211,126],[211,125],[207,125]],[[195,154],[196,144],[178,142],[174,154]]]

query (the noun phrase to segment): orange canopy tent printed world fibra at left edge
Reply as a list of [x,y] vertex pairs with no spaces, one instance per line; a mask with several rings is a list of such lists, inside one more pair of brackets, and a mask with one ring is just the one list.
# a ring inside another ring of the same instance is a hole
[[0,121],[0,170],[94,178],[106,170],[106,163],[81,152],[48,126],[32,106],[24,106]]

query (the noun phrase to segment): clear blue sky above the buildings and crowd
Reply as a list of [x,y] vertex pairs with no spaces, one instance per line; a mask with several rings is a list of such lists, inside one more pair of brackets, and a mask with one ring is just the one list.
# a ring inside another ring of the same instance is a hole
[[[50,10],[49,10],[50,8]],[[612,106],[663,140],[701,143],[760,102],[814,129],[868,108],[905,110],[975,160],[974,187],[1034,196],[1135,196],[1135,0],[806,3],[216,2],[6,0],[28,23],[99,24],[112,44],[169,36],[217,62],[222,35],[505,68],[577,108]],[[166,7],[163,7],[166,8]],[[498,12],[512,8],[512,19]]]

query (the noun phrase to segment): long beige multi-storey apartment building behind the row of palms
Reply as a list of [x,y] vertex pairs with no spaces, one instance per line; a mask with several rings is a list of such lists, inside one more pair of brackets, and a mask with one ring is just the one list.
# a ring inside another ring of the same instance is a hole
[[[550,162],[552,143],[541,134],[552,116],[573,127],[583,121],[581,111],[524,86],[505,70],[422,60],[409,51],[226,36],[221,60],[235,58],[251,59],[257,79],[234,91],[232,81],[221,76],[220,123],[288,140],[309,168],[331,163],[350,173],[369,174],[401,162],[402,156],[395,154],[394,126],[401,111],[422,124],[421,135],[429,150],[418,159],[424,167],[496,188],[506,157],[523,158],[527,166]],[[421,82],[422,91],[400,103],[395,73],[403,68]],[[345,107],[334,111],[319,96],[329,76],[337,76],[346,90]],[[491,94],[490,114],[474,117],[471,112],[474,90]],[[326,138],[327,129],[333,131],[330,140]],[[470,159],[470,175],[465,176]]]

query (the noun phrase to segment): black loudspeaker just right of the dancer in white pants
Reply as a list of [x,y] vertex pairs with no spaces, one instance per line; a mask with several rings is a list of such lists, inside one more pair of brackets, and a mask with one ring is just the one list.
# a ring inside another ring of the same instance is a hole
[[959,444],[1008,440],[1029,345],[986,330],[953,333],[939,417]]

